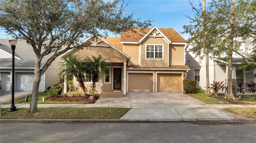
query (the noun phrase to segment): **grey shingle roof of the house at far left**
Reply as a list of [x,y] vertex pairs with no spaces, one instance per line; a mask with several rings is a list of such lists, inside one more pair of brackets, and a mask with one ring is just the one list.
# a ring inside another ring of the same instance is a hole
[[[0,49],[12,56],[12,49],[10,47],[9,39],[0,39]],[[51,55],[45,56],[42,59],[41,67],[43,67]],[[12,68],[12,58],[0,58],[0,67],[10,69]],[[34,69],[36,66],[36,54],[33,48],[25,40],[18,39],[18,43],[15,48],[15,68]]]

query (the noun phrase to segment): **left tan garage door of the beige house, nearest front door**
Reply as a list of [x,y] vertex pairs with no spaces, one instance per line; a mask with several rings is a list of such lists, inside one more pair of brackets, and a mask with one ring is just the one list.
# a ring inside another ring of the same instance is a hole
[[153,92],[153,74],[129,73],[128,91]]

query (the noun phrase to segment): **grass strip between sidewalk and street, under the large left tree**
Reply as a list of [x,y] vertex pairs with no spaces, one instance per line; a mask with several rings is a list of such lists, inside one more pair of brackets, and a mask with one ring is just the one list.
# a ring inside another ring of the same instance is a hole
[[130,108],[38,108],[29,113],[29,108],[8,112],[1,108],[0,119],[120,119]]

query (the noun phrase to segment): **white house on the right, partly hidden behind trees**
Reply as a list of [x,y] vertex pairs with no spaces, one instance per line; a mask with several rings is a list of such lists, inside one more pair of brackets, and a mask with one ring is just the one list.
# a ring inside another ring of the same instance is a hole
[[[242,43],[238,52],[244,56],[246,53],[251,53],[251,49],[254,48],[255,43],[252,43],[254,39],[249,38],[246,42]],[[192,48],[192,45],[188,45],[187,51]],[[243,58],[237,53],[233,52],[232,62],[232,79],[236,79],[237,84],[239,83],[252,83],[256,82],[256,69],[250,71],[244,71],[239,68],[241,63],[244,63]],[[228,77],[228,62],[225,61],[225,55],[220,58],[213,57],[209,59],[209,81],[210,84],[213,81],[227,82]],[[204,89],[206,87],[206,64],[205,57],[200,61],[200,55],[196,56],[192,52],[186,52],[186,65],[190,67],[190,71],[187,73],[187,79],[197,80],[196,88]]]

